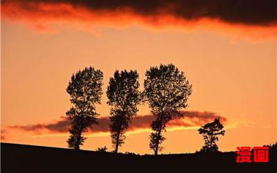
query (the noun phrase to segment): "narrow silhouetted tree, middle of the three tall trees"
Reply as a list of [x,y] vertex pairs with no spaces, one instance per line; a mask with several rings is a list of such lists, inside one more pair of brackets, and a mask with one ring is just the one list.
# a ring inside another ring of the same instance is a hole
[[111,142],[114,152],[124,143],[125,130],[129,127],[132,118],[136,116],[141,93],[139,92],[139,74],[136,71],[116,71],[114,78],[109,79],[107,88],[107,104],[111,105]]

